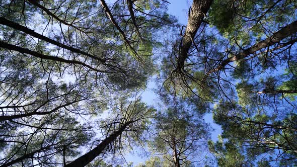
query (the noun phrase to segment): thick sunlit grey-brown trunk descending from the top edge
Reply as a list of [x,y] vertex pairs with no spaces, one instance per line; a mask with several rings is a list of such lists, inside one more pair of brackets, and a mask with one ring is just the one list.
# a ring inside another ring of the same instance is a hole
[[203,18],[206,16],[206,13],[210,8],[211,2],[212,0],[193,1],[187,28],[183,37],[182,46],[180,48],[180,55],[178,56],[177,60],[177,70],[179,72],[182,72],[182,69],[184,68],[185,60],[188,57],[188,52],[193,43],[193,39],[198,28],[203,22]]

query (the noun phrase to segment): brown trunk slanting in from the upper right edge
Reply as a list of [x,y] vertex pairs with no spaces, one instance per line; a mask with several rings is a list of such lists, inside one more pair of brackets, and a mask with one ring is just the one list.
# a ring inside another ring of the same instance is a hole
[[259,51],[260,49],[263,49],[263,48],[266,48],[273,44],[276,44],[276,43],[280,42],[281,40],[283,40],[284,38],[295,34],[296,32],[297,32],[297,21],[281,28],[279,31],[274,33],[272,36],[266,38],[263,41],[260,41],[259,43],[251,46],[250,48],[244,50],[243,52],[222,61],[220,63],[220,65],[218,65],[218,67],[208,71],[206,75],[209,75],[212,72],[215,72],[215,71],[218,71],[218,70],[224,68],[230,62],[243,59],[243,58],[247,57],[248,55],[255,53],[256,51]]

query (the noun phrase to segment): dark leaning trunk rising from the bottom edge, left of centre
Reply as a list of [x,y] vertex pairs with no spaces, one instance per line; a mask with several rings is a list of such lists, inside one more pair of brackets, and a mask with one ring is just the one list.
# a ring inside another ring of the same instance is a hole
[[76,160],[73,160],[72,162],[65,165],[65,167],[79,167],[79,166],[85,166],[88,163],[90,163],[92,160],[94,160],[99,154],[101,154],[104,149],[111,144],[130,124],[131,122],[126,123],[123,125],[119,130],[115,131],[111,135],[109,135],[107,138],[105,138],[97,147],[92,149],[91,151],[87,152],[86,154],[82,155],[81,157],[77,158]]

